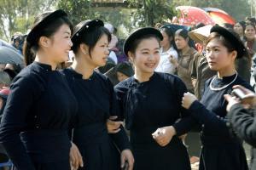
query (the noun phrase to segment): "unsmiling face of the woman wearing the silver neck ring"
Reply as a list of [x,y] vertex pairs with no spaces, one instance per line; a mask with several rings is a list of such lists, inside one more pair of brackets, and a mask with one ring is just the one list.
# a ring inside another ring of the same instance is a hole
[[236,51],[229,52],[218,37],[207,43],[207,62],[213,71],[226,71],[235,65]]

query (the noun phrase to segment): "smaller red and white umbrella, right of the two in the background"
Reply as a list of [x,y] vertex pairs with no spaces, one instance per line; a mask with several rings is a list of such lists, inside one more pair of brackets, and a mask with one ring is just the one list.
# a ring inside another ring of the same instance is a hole
[[235,25],[236,20],[234,20],[229,14],[227,14],[224,10],[219,8],[203,8],[207,14],[214,20],[214,22],[218,25],[222,25],[224,23],[229,23],[231,25]]

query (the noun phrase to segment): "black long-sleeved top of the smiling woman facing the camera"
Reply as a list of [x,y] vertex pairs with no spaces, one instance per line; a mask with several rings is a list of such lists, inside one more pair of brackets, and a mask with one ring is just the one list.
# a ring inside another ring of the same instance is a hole
[[[131,77],[119,82],[115,91],[125,113],[126,126],[131,130],[173,125],[178,136],[195,123],[181,106],[187,88],[176,76],[154,72],[147,82],[137,82]],[[183,119],[177,122],[179,118]]]

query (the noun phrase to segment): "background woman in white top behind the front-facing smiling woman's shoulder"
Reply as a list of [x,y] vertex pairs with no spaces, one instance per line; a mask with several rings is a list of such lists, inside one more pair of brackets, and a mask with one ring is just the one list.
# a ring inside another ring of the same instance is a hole
[[160,32],[163,36],[163,40],[160,42],[160,61],[155,71],[166,72],[170,74],[176,73],[176,67],[170,62],[170,56],[177,59],[177,47],[174,42],[174,32],[171,28],[162,27]]

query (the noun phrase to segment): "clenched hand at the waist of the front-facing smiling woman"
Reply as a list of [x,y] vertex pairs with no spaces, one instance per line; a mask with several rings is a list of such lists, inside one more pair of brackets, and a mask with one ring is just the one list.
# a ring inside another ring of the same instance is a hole
[[154,133],[152,133],[153,139],[160,144],[160,146],[166,146],[169,144],[174,135],[176,135],[176,130],[172,126],[158,128]]

